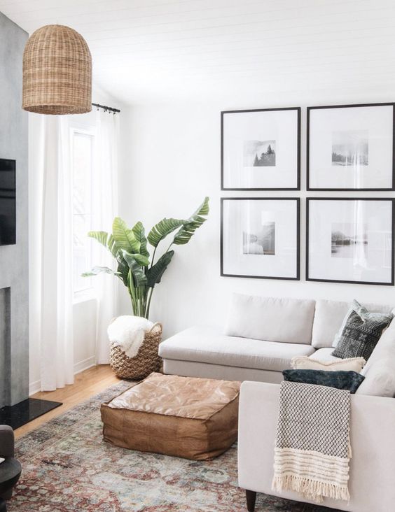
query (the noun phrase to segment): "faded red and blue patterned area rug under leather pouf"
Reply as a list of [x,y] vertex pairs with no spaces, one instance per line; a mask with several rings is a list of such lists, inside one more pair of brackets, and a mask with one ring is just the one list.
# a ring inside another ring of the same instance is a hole
[[[194,462],[104,443],[99,405],[127,387],[110,387],[18,439],[23,470],[8,511],[247,511],[237,487],[236,446],[210,462]],[[256,512],[262,511],[329,509],[258,495]]]

